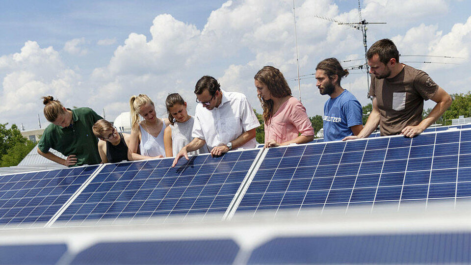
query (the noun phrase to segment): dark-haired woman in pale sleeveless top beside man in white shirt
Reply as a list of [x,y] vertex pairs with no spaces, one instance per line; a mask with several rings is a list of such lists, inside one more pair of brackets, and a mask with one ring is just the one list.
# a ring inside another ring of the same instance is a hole
[[[165,100],[168,120],[170,125],[165,128],[163,142],[165,144],[165,154],[167,157],[174,157],[185,145],[193,140],[191,131],[195,119],[188,115],[186,102],[178,93],[172,93]],[[189,155],[208,153],[206,144],[198,150],[188,152]]]

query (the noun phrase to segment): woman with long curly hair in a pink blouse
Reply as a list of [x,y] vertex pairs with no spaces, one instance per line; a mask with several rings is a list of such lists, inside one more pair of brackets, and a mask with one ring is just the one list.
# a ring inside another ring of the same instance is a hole
[[312,141],[314,129],[306,108],[291,96],[291,89],[280,70],[265,66],[254,79],[263,108],[265,148]]

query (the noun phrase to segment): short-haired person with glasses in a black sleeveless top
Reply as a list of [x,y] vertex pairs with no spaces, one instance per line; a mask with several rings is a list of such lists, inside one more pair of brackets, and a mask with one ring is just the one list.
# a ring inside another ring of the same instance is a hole
[[152,159],[151,157],[132,154],[128,144],[131,140],[129,133],[118,132],[116,127],[104,119],[98,120],[92,127],[93,134],[101,141],[98,142],[98,152],[102,163],[117,163],[123,160]]

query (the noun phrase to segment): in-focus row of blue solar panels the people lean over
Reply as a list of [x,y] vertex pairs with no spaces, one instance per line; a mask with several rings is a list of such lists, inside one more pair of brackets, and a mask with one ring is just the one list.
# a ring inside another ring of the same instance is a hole
[[470,135],[455,130],[205,154],[175,168],[173,159],[156,159],[2,175],[0,225],[456,202],[471,197]]

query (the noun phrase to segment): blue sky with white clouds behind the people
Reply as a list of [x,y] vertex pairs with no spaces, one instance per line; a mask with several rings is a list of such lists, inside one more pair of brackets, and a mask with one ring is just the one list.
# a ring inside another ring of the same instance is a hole
[[[363,61],[356,0],[294,0],[300,75],[337,57],[346,68]],[[361,0],[368,47],[391,38],[401,61],[426,71],[449,93],[471,90],[471,3],[468,0]],[[40,97],[66,107],[90,106],[106,119],[129,110],[131,95],[148,94],[165,115],[164,100],[179,92],[194,113],[196,81],[218,79],[261,110],[253,76],[279,68],[308,115],[322,115],[327,96],[312,76],[298,82],[292,0],[2,1],[0,16],[0,123],[26,130],[44,126]],[[433,56],[435,57],[433,57]],[[459,58],[443,58],[452,56]],[[352,60],[352,61],[349,61]],[[435,63],[421,63],[423,61]],[[342,80],[362,105],[366,74]],[[426,107],[433,106],[427,103]]]

